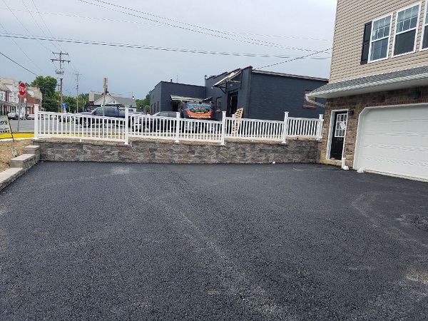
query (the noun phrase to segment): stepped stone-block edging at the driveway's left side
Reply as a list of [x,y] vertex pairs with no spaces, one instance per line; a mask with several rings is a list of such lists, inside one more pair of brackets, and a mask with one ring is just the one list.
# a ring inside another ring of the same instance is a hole
[[11,168],[8,168],[0,173],[0,190],[3,190],[14,182],[16,178],[29,170],[40,161],[40,147],[39,146],[26,146],[24,154],[12,158],[9,161]]

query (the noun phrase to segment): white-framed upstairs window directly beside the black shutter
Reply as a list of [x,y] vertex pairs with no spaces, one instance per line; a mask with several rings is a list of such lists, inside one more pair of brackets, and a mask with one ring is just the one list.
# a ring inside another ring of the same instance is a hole
[[389,15],[372,21],[370,61],[388,58],[391,18],[392,16]]

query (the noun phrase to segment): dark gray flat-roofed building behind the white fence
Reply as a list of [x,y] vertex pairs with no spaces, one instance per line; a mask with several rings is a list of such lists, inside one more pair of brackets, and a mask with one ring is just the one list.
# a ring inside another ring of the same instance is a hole
[[[218,118],[244,108],[244,118],[281,121],[290,117],[318,118],[324,108],[305,101],[305,94],[324,86],[325,78],[260,71],[252,66],[205,78],[205,86],[161,81],[151,92],[151,112],[178,111],[180,98],[212,98]],[[322,101],[320,101],[322,103]]]

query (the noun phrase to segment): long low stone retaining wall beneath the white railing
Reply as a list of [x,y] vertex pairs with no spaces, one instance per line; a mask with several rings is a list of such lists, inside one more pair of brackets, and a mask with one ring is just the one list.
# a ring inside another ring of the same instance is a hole
[[130,141],[129,145],[87,141],[34,140],[41,161],[121,163],[317,163],[320,141],[289,140],[287,144],[233,142],[225,146],[172,141]]

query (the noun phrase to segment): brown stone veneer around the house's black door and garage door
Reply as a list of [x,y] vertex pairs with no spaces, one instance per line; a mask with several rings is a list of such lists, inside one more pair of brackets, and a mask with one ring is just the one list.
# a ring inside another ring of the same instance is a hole
[[323,126],[323,137],[321,146],[320,163],[340,165],[340,160],[330,161],[327,159],[327,143],[330,132],[330,121],[332,111],[350,109],[354,111],[353,116],[348,116],[345,148],[343,157],[346,164],[352,168],[354,166],[355,145],[357,141],[358,118],[360,113],[367,107],[376,106],[398,106],[414,103],[428,103],[428,87],[419,87],[421,96],[419,99],[412,99],[415,88],[400,89],[396,91],[380,91],[377,93],[367,93],[357,96],[330,98],[325,106],[325,121]]

